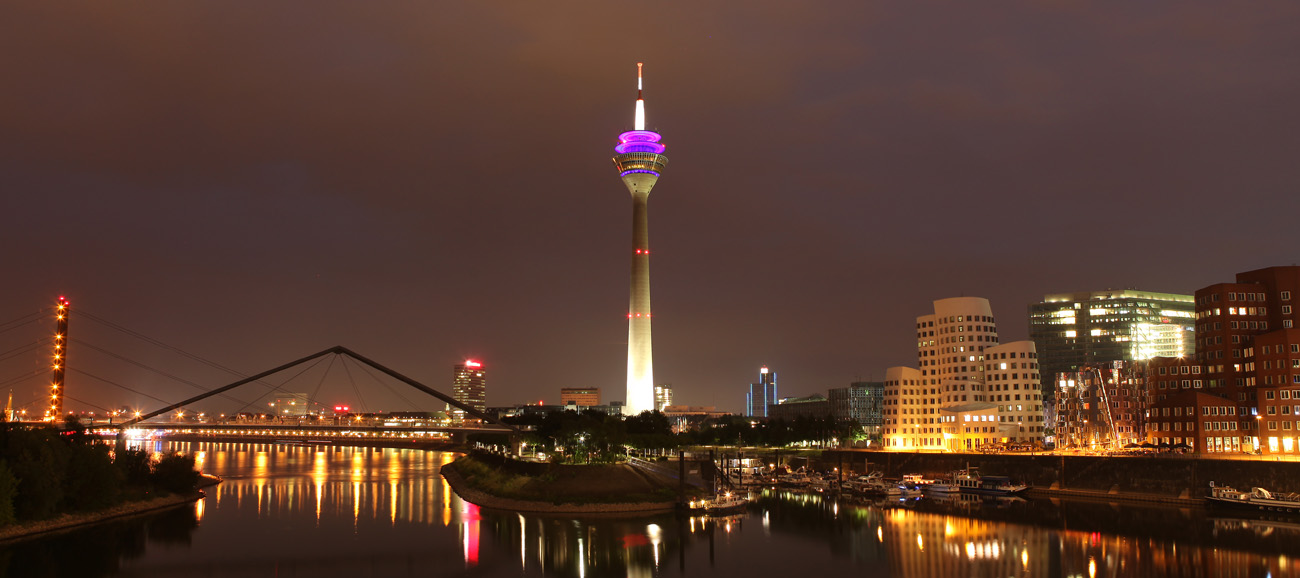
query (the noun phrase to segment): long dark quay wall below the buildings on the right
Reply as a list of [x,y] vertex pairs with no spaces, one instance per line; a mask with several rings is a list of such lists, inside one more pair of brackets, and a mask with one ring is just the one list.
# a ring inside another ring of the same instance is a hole
[[826,451],[811,460],[812,468],[862,473],[883,470],[885,477],[904,474],[940,475],[978,466],[988,475],[1010,475],[1037,488],[1115,491],[1178,496],[1205,495],[1209,483],[1235,488],[1264,487],[1300,492],[1300,462],[1266,460],[1216,460],[1175,456],[1071,456],[909,453],[871,451]]

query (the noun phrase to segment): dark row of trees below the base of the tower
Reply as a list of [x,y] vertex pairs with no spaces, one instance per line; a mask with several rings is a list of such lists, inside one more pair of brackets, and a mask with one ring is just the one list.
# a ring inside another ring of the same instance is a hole
[[[642,412],[627,418],[595,410],[550,412],[508,417],[506,421],[532,426],[533,430],[525,435],[524,442],[547,453],[552,461],[569,464],[612,462],[629,452],[671,451],[690,446],[827,447],[853,439],[861,431],[855,423],[837,423],[828,417],[762,421],[725,416],[693,430],[673,433],[668,417],[659,412]],[[478,440],[504,444],[503,436]]]

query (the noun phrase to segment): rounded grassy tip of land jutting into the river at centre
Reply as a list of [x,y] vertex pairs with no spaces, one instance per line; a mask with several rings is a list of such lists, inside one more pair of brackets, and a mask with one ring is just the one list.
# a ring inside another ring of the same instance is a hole
[[464,456],[442,466],[442,477],[465,501],[493,509],[650,514],[677,507],[676,491],[667,482],[627,465],[567,466]]

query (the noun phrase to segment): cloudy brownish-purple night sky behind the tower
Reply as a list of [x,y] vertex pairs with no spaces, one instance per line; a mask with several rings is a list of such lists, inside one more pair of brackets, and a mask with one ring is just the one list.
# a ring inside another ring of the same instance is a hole
[[[783,396],[881,379],[935,299],[988,297],[1009,342],[1049,292],[1296,262],[1295,1],[4,12],[0,322],[68,296],[70,409],[237,379],[108,323],[244,374],[344,346],[448,392],[480,358],[489,405],[621,400],[637,61],[679,404],[738,412],[764,364]],[[48,348],[0,357],[35,403]],[[286,387],[355,404],[325,375]]]

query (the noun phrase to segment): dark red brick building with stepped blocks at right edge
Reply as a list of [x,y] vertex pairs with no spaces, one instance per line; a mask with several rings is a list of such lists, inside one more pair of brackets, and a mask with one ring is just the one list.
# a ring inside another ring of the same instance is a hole
[[1196,355],[1156,357],[1147,370],[1149,436],[1197,453],[1300,453],[1296,299],[1300,266],[1197,290]]

